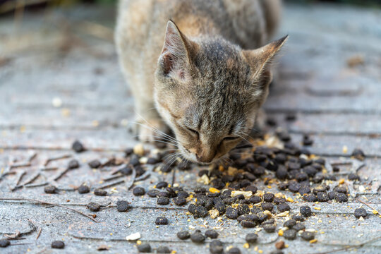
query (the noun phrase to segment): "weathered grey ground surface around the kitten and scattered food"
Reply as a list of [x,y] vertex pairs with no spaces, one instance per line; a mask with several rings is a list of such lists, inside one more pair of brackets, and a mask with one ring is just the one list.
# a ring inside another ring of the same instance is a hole
[[[338,178],[350,172],[361,182],[347,181],[351,194],[381,211],[381,10],[349,6],[288,5],[279,35],[290,38],[282,52],[277,82],[265,104],[267,114],[291,133],[296,143],[309,133],[315,141],[310,151],[332,162],[344,162]],[[224,218],[193,219],[186,207],[160,206],[152,198],[136,198],[125,183],[106,188],[109,195],[79,194],[76,186],[86,183],[92,189],[108,183],[109,167],[92,170],[91,159],[122,157],[126,147],[136,141],[126,131],[133,121],[133,99],[123,82],[112,42],[114,10],[110,8],[47,9],[24,13],[23,20],[0,17],[0,169],[15,167],[14,174],[0,180],[0,198],[30,198],[71,207],[84,214],[88,202],[99,202],[97,222],[63,207],[34,202],[0,201],[0,236],[20,232],[21,238],[1,249],[1,253],[93,253],[107,246],[109,253],[136,253],[135,242],[126,236],[140,232],[140,240],[153,249],[168,246],[177,253],[206,253],[208,243],[197,245],[180,241],[180,229],[215,227],[224,247],[236,246],[243,253],[270,253],[277,234],[258,232],[258,244],[243,248],[245,236],[254,229],[243,229],[236,221]],[[296,121],[285,121],[287,114]],[[274,130],[270,130],[274,131]],[[76,154],[74,140],[81,140],[88,151]],[[361,147],[366,159],[351,159],[354,148]],[[58,169],[41,171],[48,158],[68,155],[81,167],[53,179],[70,160],[49,163]],[[13,162],[16,162],[13,163]],[[361,164],[365,167],[360,167]],[[191,190],[197,171],[176,173],[177,183]],[[37,173],[40,173],[37,175]],[[16,185],[33,180],[28,188]],[[20,178],[22,177],[22,178]],[[19,183],[18,180],[20,179]],[[129,177],[126,178],[126,181]],[[171,181],[171,174],[152,172],[140,186],[152,187],[157,181]],[[45,194],[38,183],[49,181],[59,194]],[[114,180],[113,180],[114,181]],[[112,181],[111,181],[112,182]],[[37,186],[33,186],[33,184]],[[258,188],[266,189],[261,181]],[[267,189],[268,190],[268,189]],[[278,192],[273,186],[274,192]],[[292,196],[292,193],[286,195]],[[117,212],[116,200],[128,200],[133,209]],[[315,216],[306,220],[307,229],[317,231],[317,243],[298,238],[285,240],[284,253],[327,253],[347,245],[340,253],[381,253],[381,219],[353,197],[344,204],[314,204]],[[291,203],[298,211],[303,202]],[[359,221],[355,208],[363,206],[368,218]],[[168,226],[156,226],[155,218],[165,215]],[[282,218],[279,218],[279,224]],[[192,230],[191,230],[192,231]],[[5,237],[5,236],[4,236]],[[53,250],[50,243],[62,240],[64,250]],[[380,240],[380,239],[379,239]],[[16,245],[20,243],[20,245]],[[339,252],[338,252],[339,253]]]

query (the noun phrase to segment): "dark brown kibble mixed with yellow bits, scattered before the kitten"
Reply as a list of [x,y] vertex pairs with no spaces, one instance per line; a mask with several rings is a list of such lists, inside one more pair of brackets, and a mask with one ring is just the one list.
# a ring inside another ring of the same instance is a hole
[[[303,142],[305,144],[312,144],[308,136],[303,140],[306,140]],[[294,145],[290,136],[284,132],[253,140],[243,147],[241,152],[231,152],[229,163],[214,164],[208,169],[200,169],[198,182],[202,187],[185,191],[179,184],[171,186],[170,183],[161,181],[147,192],[142,187],[136,187],[133,194],[139,197],[147,194],[150,198],[156,198],[157,205],[169,205],[173,202],[177,206],[187,206],[187,213],[195,218],[236,220],[243,228],[278,234],[281,239],[294,240],[300,237],[309,243],[317,242],[315,230],[306,229],[303,221],[310,217],[314,210],[320,210],[320,207],[315,206],[319,202],[349,200],[349,189],[344,179],[337,179],[332,172],[329,173],[325,168],[325,159],[315,157],[307,149]],[[132,156],[133,161],[139,161],[133,150],[128,150],[127,155]],[[353,157],[362,160],[365,155],[361,150],[355,150]],[[147,162],[152,161],[152,158],[147,159]],[[156,155],[155,163],[159,161]],[[164,162],[158,169],[169,173],[173,167],[174,165]],[[190,167],[191,164],[181,160],[176,165],[180,170],[188,170]],[[338,167],[334,167],[332,171],[338,170]],[[359,180],[356,174],[349,174],[348,179]],[[263,181],[267,187],[259,190],[253,184],[258,181]],[[272,187],[274,185],[277,189]],[[292,198],[291,195],[287,197],[282,191],[289,191],[295,195]],[[292,202],[306,202],[306,205],[291,211],[289,204]],[[363,208],[356,209],[354,214],[361,219],[367,216]],[[276,219],[280,217],[287,219],[283,224],[277,225]],[[168,220],[165,217],[157,217],[156,224],[168,224]],[[200,230],[179,231],[177,237],[181,240],[191,238],[191,241],[200,244],[204,243],[205,238],[217,238],[218,233],[212,229],[204,234]],[[257,238],[255,233],[247,234],[247,243],[243,248],[249,248]],[[140,243],[137,247],[143,253],[151,251],[149,243]],[[224,252],[223,244],[219,240],[213,240],[209,248],[210,253]],[[286,244],[279,240],[275,243],[273,253],[283,253],[283,248],[286,248]],[[232,247],[227,253],[241,253],[241,250]]]

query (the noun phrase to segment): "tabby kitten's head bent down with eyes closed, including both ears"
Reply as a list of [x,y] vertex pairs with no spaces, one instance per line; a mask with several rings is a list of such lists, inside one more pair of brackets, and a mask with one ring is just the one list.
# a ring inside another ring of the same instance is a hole
[[247,138],[267,97],[270,61],[285,41],[242,50],[222,38],[189,40],[168,22],[155,102],[186,159],[214,162]]

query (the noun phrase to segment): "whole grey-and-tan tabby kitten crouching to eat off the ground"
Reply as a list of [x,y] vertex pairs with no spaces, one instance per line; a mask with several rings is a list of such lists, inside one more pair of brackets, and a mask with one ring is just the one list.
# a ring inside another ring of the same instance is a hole
[[[176,135],[181,154],[210,163],[247,137],[287,37],[265,44],[280,0],[121,0],[116,45],[135,97],[140,140]],[[164,46],[163,46],[164,44]],[[169,126],[169,128],[168,128]]]

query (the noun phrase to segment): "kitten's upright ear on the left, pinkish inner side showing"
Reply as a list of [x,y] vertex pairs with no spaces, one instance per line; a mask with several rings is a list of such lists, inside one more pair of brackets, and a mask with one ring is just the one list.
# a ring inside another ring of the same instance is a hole
[[162,67],[164,75],[186,80],[192,47],[193,42],[183,35],[173,21],[169,20],[165,32],[164,47],[159,56],[159,66]]

